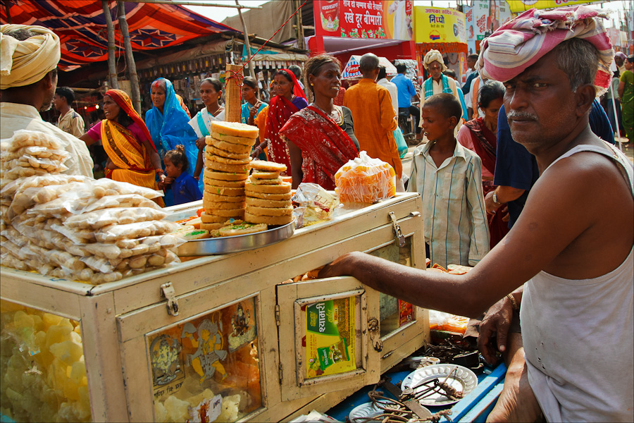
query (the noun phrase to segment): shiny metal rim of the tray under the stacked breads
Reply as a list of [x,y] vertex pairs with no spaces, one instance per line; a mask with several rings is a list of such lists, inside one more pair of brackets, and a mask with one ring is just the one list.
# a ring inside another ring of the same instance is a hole
[[266,231],[247,233],[244,235],[223,236],[219,238],[205,238],[189,240],[178,247],[178,255],[182,257],[220,255],[230,252],[254,250],[279,243],[290,238],[295,230],[294,221]]

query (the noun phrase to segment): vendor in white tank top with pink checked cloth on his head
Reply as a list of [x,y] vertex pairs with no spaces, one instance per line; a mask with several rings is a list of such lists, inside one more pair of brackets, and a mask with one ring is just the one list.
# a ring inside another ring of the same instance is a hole
[[500,351],[519,309],[523,348],[490,421],[534,422],[539,412],[548,422],[634,421],[634,166],[588,120],[614,56],[601,17],[584,6],[531,9],[481,44],[480,72],[504,81],[511,135],[540,177],[480,263],[458,276],[353,252],[319,273],[463,316],[496,303],[503,312],[484,334],[480,326],[478,344],[497,332]]

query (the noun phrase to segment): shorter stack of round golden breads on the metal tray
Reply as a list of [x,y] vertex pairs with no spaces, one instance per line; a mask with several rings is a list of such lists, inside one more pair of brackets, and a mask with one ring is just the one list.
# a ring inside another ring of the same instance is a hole
[[291,184],[280,178],[286,171],[283,164],[273,161],[251,161],[253,173],[244,185],[247,207],[244,220],[251,223],[285,225],[293,220]]

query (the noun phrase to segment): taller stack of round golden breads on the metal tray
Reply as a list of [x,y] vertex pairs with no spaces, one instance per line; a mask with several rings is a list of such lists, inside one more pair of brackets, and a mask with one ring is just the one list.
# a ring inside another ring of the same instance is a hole
[[201,229],[213,231],[230,219],[244,219],[244,183],[249,176],[256,126],[212,121],[206,137]]

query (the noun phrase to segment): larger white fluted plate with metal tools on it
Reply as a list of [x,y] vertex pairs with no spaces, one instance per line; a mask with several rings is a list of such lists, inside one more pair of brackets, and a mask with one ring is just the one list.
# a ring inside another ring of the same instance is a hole
[[[451,374],[451,376],[447,378],[449,374]],[[478,377],[466,367],[462,367],[457,364],[433,364],[432,366],[423,367],[422,369],[416,369],[414,372],[408,374],[406,378],[403,379],[401,389],[404,390],[405,388],[411,388],[412,386],[423,384],[423,382],[427,382],[435,378],[439,379],[441,382],[445,381],[445,378],[447,378],[445,383],[452,386],[452,388],[456,389],[456,391],[461,392],[463,397],[473,391],[475,386],[478,386]],[[433,384],[419,386],[415,389],[415,391],[424,391],[428,388],[428,386],[433,386]],[[443,395],[442,391],[441,393],[435,392],[430,396],[418,400],[418,402],[422,405],[434,406],[454,404],[458,401],[459,400],[447,398],[447,396]]]

